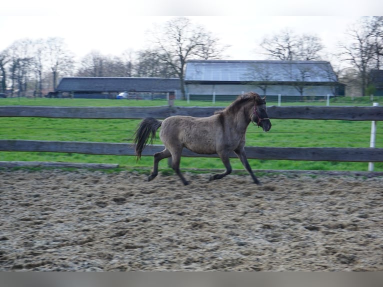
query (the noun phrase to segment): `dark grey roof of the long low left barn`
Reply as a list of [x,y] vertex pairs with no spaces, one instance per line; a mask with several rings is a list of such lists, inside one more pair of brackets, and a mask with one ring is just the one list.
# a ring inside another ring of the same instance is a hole
[[63,77],[59,91],[165,92],[180,89],[179,78],[160,77]]

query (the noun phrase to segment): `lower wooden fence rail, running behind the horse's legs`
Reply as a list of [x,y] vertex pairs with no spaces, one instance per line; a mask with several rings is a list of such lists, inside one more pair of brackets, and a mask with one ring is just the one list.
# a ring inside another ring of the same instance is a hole
[[[147,146],[142,156],[153,155],[163,150],[161,144]],[[0,140],[3,151],[47,151],[75,152],[86,154],[135,155],[134,147],[129,143],[111,142],[78,142],[78,141],[44,141],[44,140]],[[288,159],[288,160],[324,160],[383,162],[383,148],[341,148],[341,147],[254,147],[246,146],[248,158],[256,159]],[[217,154],[198,154],[184,148],[182,156],[186,157],[218,157]],[[237,157],[234,152],[230,157]]]

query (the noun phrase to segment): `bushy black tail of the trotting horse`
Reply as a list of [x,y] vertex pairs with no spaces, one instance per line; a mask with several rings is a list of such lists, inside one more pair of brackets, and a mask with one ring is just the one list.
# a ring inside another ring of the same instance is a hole
[[153,117],[144,118],[137,126],[134,132],[133,142],[135,144],[135,155],[138,159],[141,158],[143,148],[146,146],[150,137],[150,144],[153,144],[155,132],[161,126],[162,121]]

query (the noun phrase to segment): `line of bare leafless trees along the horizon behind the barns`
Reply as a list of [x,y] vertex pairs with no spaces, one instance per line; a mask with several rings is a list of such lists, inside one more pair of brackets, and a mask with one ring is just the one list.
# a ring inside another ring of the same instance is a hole
[[[347,65],[337,69],[339,80],[356,84],[361,95],[373,90],[370,71],[380,69],[383,59],[383,17],[361,17],[345,31],[346,43],[339,43],[333,55]],[[121,55],[103,55],[94,50],[79,62],[60,37],[20,39],[0,51],[0,92],[23,96],[28,90],[39,96],[53,91],[62,76],[178,77],[184,94],[183,77],[188,59],[220,59],[227,45],[192,23],[175,17],[153,28],[147,48],[126,50]],[[297,34],[291,29],[264,37],[261,57],[280,60],[320,60],[324,45],[315,34]]]

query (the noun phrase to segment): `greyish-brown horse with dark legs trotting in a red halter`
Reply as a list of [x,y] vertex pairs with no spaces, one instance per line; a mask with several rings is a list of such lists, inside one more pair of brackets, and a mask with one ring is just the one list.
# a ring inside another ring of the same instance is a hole
[[189,182],[179,170],[182,148],[199,153],[217,153],[226,170],[222,173],[211,175],[209,180],[220,179],[231,173],[229,154],[234,151],[239,157],[244,168],[251,175],[256,184],[260,184],[247,161],[244,150],[245,133],[250,122],[269,131],[271,122],[267,115],[266,98],[261,98],[255,92],[239,95],[224,109],[215,111],[208,117],[192,117],[186,115],[173,115],[164,120],[153,117],[144,118],[138,125],[133,135],[137,161],[141,157],[143,148],[149,141],[153,143],[156,130],[165,148],[154,153],[154,165],[148,181],[158,174],[158,162],[171,156],[171,167],[182,180],[184,185]]

